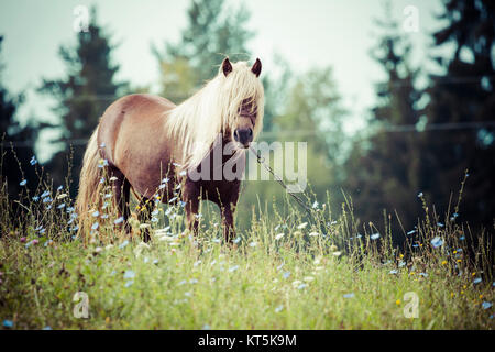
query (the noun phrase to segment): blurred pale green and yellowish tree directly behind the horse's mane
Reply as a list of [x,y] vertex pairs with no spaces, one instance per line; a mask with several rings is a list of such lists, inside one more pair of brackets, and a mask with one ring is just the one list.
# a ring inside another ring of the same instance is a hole
[[246,29],[250,12],[240,7],[228,9],[224,0],[194,0],[187,11],[188,25],[176,44],[165,51],[153,48],[162,72],[162,95],[174,102],[217,75],[223,56],[249,58],[246,44],[253,35]]

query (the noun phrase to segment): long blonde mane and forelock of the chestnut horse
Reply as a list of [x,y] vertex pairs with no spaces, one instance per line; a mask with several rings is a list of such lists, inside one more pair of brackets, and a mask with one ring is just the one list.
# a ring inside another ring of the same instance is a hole
[[199,165],[219,133],[233,131],[239,108],[246,99],[252,99],[257,107],[255,140],[263,127],[264,91],[261,80],[245,62],[232,64],[227,77],[220,67],[212,80],[169,112],[168,128],[183,144],[183,168]]

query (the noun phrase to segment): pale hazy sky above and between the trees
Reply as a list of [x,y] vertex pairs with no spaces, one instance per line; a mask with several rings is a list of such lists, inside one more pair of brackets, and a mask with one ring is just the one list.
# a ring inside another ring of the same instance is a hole
[[[117,44],[113,61],[120,65],[118,80],[132,86],[151,86],[157,91],[158,65],[151,46],[176,42],[187,25],[190,0],[1,0],[0,34],[4,35],[1,62],[2,81],[15,94],[24,91],[26,101],[18,118],[36,116],[54,121],[55,101],[36,92],[42,78],[64,77],[66,67],[58,56],[62,44],[74,44],[74,13],[78,6],[98,7],[98,22]],[[287,61],[297,74],[331,66],[351,124],[362,125],[363,117],[375,101],[374,84],[382,79],[381,67],[370,58],[376,44],[374,19],[383,18],[381,0],[227,0],[228,7],[241,3],[250,10],[249,28],[255,32],[250,42],[252,58],[263,62],[263,75],[276,72],[276,55]],[[435,14],[440,0],[394,0],[393,15],[407,21],[407,7],[418,13],[418,32],[408,32],[414,44],[413,64],[425,66],[430,33],[441,24]],[[47,150],[43,148],[45,157]],[[43,154],[43,153],[42,153]],[[43,160],[43,155],[40,155]]]

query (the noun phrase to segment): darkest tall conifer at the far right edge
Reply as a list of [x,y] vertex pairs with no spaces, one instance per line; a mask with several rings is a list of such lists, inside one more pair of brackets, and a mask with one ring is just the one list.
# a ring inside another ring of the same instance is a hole
[[436,47],[454,50],[435,57],[446,73],[431,75],[426,114],[429,124],[455,130],[427,134],[426,167],[435,172],[425,189],[433,200],[447,198],[469,169],[459,219],[494,230],[495,3],[449,0],[439,19],[448,24],[433,33]]

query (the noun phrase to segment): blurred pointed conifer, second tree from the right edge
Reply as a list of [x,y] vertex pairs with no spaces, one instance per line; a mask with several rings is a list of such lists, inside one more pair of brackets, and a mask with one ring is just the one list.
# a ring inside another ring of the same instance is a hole
[[[403,226],[417,222],[420,202],[416,195],[421,179],[421,135],[410,129],[419,121],[416,109],[421,97],[415,88],[418,70],[410,67],[410,44],[399,34],[398,24],[386,9],[386,20],[371,56],[383,67],[386,80],[376,85],[377,105],[372,109],[370,134],[356,139],[345,163],[343,189],[352,197],[355,215],[363,223],[383,224],[383,211],[397,211]],[[395,218],[395,217],[394,217]],[[393,233],[402,233],[398,221]]]

